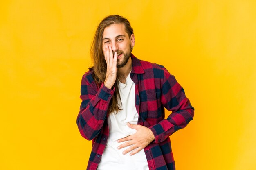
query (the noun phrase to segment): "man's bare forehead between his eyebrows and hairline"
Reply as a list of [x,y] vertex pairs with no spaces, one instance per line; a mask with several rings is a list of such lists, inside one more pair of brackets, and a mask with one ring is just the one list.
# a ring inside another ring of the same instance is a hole
[[114,38],[118,35],[128,36],[125,30],[124,24],[112,24],[104,29],[103,39],[104,38]]

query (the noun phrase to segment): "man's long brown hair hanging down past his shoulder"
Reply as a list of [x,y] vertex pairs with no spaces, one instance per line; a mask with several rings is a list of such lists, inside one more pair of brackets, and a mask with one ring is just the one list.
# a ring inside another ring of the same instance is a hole
[[[94,64],[94,66],[92,67],[92,69],[94,70],[93,78],[98,86],[105,81],[107,72],[107,63],[104,59],[102,49],[103,32],[106,27],[112,24],[124,24],[126,33],[128,33],[129,38],[133,34],[133,29],[130,26],[130,22],[126,18],[119,15],[109,15],[99,23],[91,46],[91,57]],[[121,110],[118,105],[118,99],[120,99],[120,94],[117,86],[117,80],[115,81],[113,87],[115,87],[115,92],[112,96],[112,99],[110,100],[108,113],[112,113],[113,111],[116,111],[117,113],[119,110]]]

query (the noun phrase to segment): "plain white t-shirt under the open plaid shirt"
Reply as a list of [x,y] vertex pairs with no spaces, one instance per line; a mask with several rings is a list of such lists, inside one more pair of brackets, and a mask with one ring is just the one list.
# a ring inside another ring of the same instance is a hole
[[130,74],[126,78],[126,83],[119,82],[119,93],[122,110],[108,116],[109,137],[97,170],[149,170],[144,149],[132,156],[132,151],[126,155],[122,154],[130,146],[117,149],[124,143],[118,143],[118,139],[136,133],[136,129],[129,128],[127,123],[137,124],[139,117],[135,108],[135,84]]

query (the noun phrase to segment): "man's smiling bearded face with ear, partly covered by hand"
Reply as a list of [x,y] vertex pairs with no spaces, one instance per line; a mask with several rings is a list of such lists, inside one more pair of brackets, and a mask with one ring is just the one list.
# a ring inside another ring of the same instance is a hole
[[111,46],[113,56],[117,52],[117,68],[124,67],[130,58],[131,47],[135,44],[134,35],[129,38],[124,24],[112,24],[104,29],[102,40],[102,48]]

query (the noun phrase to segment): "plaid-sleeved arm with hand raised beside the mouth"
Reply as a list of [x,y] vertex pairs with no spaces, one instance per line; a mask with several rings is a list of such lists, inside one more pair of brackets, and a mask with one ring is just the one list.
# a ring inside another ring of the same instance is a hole
[[104,56],[107,63],[105,82],[97,90],[92,74],[85,74],[81,83],[82,99],[80,111],[77,117],[77,125],[81,135],[88,140],[94,139],[103,126],[106,119],[110,100],[114,94],[117,74],[117,52],[113,57],[112,48],[104,47]]

